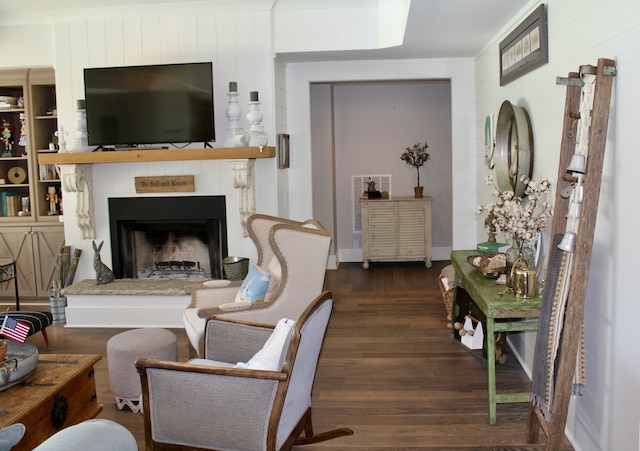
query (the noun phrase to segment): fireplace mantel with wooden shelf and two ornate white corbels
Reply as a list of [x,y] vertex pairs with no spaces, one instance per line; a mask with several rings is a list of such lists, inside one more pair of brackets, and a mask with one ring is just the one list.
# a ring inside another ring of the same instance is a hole
[[234,147],[214,149],[141,150],[117,152],[43,153],[40,164],[55,164],[60,170],[62,189],[78,194],[76,222],[83,239],[95,239],[93,207],[93,164],[131,163],[180,160],[221,160],[231,163],[233,187],[240,190],[240,217],[243,234],[247,236],[246,221],[255,213],[256,158],[273,158],[275,147]]

